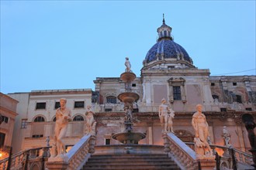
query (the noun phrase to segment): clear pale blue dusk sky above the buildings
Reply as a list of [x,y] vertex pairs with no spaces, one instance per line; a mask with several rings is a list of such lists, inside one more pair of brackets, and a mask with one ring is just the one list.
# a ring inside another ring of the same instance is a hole
[[255,1],[1,1],[0,91],[95,90],[126,56],[140,76],[163,13],[197,68],[255,75]]

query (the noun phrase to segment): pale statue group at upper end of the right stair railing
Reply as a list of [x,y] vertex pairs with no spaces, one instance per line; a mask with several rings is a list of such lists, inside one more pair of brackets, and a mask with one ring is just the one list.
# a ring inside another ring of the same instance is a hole
[[172,128],[172,119],[175,117],[175,111],[171,110],[165,103],[166,100],[162,99],[158,110],[162,132],[171,131],[171,133],[175,133]]

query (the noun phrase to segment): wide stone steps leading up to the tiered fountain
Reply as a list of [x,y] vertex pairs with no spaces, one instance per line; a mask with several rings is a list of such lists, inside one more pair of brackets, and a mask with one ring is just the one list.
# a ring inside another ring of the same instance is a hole
[[165,154],[92,155],[82,169],[180,169]]

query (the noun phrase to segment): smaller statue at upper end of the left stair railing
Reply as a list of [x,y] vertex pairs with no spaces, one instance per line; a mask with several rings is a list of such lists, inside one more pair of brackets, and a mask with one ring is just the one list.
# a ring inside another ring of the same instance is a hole
[[95,125],[96,121],[94,120],[94,111],[92,110],[92,106],[88,105],[85,111],[85,119],[86,119],[86,128],[87,134],[95,135]]

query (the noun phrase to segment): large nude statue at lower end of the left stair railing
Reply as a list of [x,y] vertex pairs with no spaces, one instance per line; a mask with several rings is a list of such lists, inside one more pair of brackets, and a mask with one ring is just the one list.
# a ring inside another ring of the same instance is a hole
[[64,155],[66,153],[65,144],[63,141],[67,133],[67,123],[72,120],[71,110],[66,107],[67,100],[61,98],[61,107],[56,110],[56,123],[54,129],[54,145],[52,147],[51,157]]

